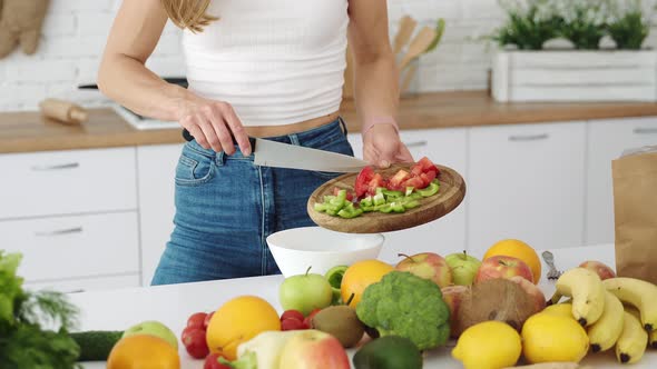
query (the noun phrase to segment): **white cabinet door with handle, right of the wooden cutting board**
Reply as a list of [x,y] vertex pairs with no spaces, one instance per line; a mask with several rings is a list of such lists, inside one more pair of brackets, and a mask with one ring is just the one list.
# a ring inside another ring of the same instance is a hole
[[585,122],[474,128],[468,166],[468,249],[521,239],[537,249],[581,245]]

